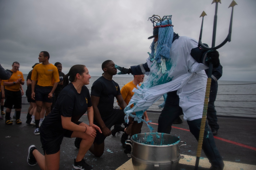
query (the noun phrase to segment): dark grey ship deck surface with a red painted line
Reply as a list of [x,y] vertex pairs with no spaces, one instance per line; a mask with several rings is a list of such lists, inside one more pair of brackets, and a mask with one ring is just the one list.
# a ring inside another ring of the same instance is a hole
[[[25,123],[29,105],[23,104],[22,107],[23,123],[21,125],[15,123],[6,125],[4,120],[0,120],[0,169],[40,169],[38,165],[29,166],[27,163],[30,145],[35,145],[41,153],[42,149],[40,135],[34,135],[35,126]],[[11,116],[13,114],[14,109]],[[158,123],[158,116],[159,113],[148,112],[148,117],[153,123]],[[82,116],[80,120],[88,123],[87,115]],[[223,160],[256,165],[256,119],[218,117],[218,123],[220,129],[215,141]],[[156,124],[152,124],[153,132],[157,131]],[[171,135],[179,136],[187,144],[180,147],[180,154],[195,156],[197,141],[189,131],[184,129],[189,129],[186,122],[174,124]],[[142,133],[145,132],[149,132],[149,129],[144,123]],[[130,158],[123,152],[120,142],[121,135],[109,136],[105,139],[105,150],[101,158],[95,157],[88,151],[85,156],[86,162],[95,170],[114,170],[128,161]],[[74,139],[64,138],[61,145],[60,169],[73,169],[73,160],[77,152]],[[206,158],[203,151],[201,157]],[[194,167],[180,164],[179,169],[194,169]],[[207,168],[199,167],[199,169]]]

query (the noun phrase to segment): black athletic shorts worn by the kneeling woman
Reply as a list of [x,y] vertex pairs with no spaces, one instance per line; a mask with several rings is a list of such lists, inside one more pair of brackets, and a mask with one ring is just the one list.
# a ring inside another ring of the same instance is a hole
[[[79,125],[82,121],[78,121],[76,124]],[[52,130],[42,130],[42,126],[39,128],[40,132],[40,140],[42,143],[42,148],[44,150],[44,154],[50,155],[57,153],[60,150],[60,145],[63,140],[63,137],[71,138],[73,131],[65,130],[64,133],[52,132]]]

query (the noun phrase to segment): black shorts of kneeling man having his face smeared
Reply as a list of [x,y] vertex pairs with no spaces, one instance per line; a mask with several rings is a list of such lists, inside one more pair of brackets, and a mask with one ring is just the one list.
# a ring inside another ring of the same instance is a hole
[[[103,122],[105,123],[106,127],[108,127],[109,129],[115,125],[115,124],[122,124],[124,123],[124,110],[121,109],[114,109],[112,113],[109,114],[109,116],[106,117],[101,117]],[[93,123],[97,126],[99,126],[99,124],[94,120]],[[93,143],[97,143],[98,145],[100,145],[101,143],[104,142],[105,140],[105,136],[103,135],[103,133],[100,133],[98,130],[96,130],[97,135],[94,139]]]

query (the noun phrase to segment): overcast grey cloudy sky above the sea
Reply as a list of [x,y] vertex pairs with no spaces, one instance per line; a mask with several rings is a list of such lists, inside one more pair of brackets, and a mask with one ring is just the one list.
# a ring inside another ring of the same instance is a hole
[[[225,40],[232,0],[218,4],[216,46]],[[202,42],[211,46],[215,4],[212,0],[1,0],[0,63],[11,69],[14,61],[27,74],[40,51],[50,63],[61,62],[68,73],[74,64],[87,66],[92,76],[101,64],[113,60],[129,68],[146,62],[150,51],[153,14],[172,15],[174,32],[198,40],[204,17]],[[236,0],[231,42],[218,51],[223,66],[220,80],[256,81],[256,1]]]

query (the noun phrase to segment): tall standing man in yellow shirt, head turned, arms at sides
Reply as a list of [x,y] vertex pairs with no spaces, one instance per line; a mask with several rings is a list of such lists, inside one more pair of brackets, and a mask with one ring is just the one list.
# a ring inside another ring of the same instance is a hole
[[34,67],[31,75],[31,99],[36,101],[35,135],[40,134],[40,112],[43,103],[45,105],[45,116],[47,116],[51,111],[54,90],[60,81],[58,69],[49,62],[49,58],[50,54],[47,51],[41,51],[38,57],[40,64]]

